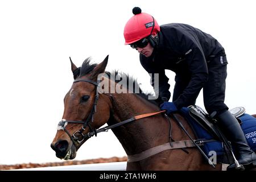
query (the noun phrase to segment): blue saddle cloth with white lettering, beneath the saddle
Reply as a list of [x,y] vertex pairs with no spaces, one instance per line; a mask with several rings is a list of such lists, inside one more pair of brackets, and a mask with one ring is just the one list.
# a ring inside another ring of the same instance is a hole
[[[192,126],[193,131],[195,131],[195,135],[197,139],[203,140],[211,140],[214,139],[213,135],[208,133],[203,127],[201,127],[190,115],[189,115],[189,108],[183,107],[181,109],[181,113],[183,116],[187,118],[187,121]],[[247,142],[253,151],[256,151],[256,118],[249,114],[243,114],[240,117],[241,119],[241,128]],[[222,162],[222,158],[225,155],[224,146],[220,141],[212,141],[205,143],[202,147],[204,153],[210,158],[212,156],[212,151],[216,152],[217,154],[217,162]]]

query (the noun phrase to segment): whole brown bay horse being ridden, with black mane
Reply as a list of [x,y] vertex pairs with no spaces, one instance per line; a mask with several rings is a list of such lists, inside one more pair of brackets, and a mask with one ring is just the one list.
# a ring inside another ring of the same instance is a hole
[[[131,121],[137,115],[160,111],[157,102],[148,100],[147,94],[99,93],[98,76],[105,73],[107,64],[108,56],[100,64],[91,64],[86,59],[80,67],[79,76],[76,76],[77,67],[71,60],[75,80],[65,95],[63,117],[51,143],[57,158],[74,159],[81,145],[92,135],[97,135],[96,129],[108,123],[108,126],[117,126],[112,130],[128,156],[127,170],[221,170],[220,163],[215,168],[210,166],[196,147],[185,150],[180,147],[147,155],[147,152],[152,152],[151,148],[157,150],[158,146],[166,143],[170,146],[170,138],[175,141],[188,141],[189,138],[174,118],[168,121],[163,113]],[[104,77],[104,80],[110,83],[109,87],[111,84],[118,86],[108,77]],[[180,114],[176,116],[191,137],[195,138],[185,118]],[[131,122],[118,126],[122,121]]]

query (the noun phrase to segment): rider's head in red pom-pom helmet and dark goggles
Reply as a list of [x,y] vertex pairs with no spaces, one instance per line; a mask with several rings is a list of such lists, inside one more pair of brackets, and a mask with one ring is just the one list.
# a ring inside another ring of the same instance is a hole
[[153,16],[141,13],[139,7],[133,8],[134,16],[125,25],[123,35],[125,45],[129,44],[144,56],[151,56],[154,47],[158,44],[160,27]]

